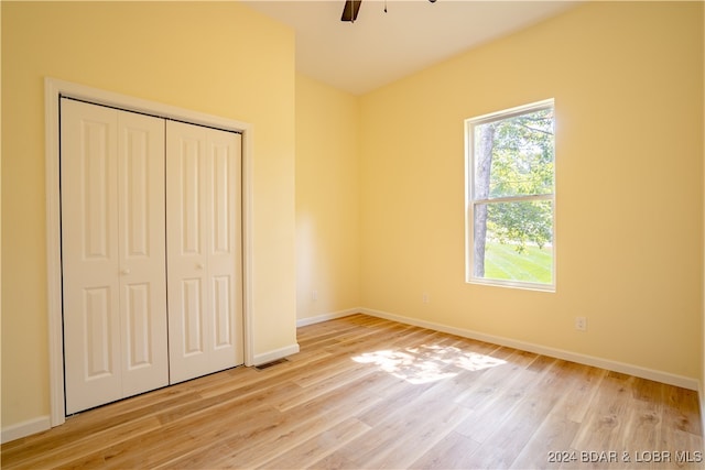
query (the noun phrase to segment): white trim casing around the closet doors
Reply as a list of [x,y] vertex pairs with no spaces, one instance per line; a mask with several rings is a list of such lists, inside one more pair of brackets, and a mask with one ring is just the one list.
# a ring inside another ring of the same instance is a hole
[[51,426],[66,420],[64,406],[64,336],[62,326],[59,100],[70,97],[127,111],[207,125],[242,135],[242,330],[245,365],[253,365],[251,275],[252,272],[252,125],[160,102],[100,90],[47,77],[44,80],[45,188],[46,188],[46,293],[48,315],[48,369]]

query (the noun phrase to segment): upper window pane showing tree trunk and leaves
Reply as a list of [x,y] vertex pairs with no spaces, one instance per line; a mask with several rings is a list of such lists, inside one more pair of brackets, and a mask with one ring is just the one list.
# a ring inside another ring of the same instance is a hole
[[475,199],[553,194],[553,108],[473,129]]

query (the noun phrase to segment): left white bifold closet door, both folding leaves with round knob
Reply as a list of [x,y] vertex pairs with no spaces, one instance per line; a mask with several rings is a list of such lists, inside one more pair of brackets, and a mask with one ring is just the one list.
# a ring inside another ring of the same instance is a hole
[[66,413],[169,384],[164,120],[62,99]]

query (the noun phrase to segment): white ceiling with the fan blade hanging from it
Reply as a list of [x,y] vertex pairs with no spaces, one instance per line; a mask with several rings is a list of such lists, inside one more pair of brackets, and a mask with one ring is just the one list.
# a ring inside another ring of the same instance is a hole
[[292,26],[296,68],[360,95],[481,43],[562,13],[577,2],[362,0],[355,23],[340,21],[345,0],[245,0]]

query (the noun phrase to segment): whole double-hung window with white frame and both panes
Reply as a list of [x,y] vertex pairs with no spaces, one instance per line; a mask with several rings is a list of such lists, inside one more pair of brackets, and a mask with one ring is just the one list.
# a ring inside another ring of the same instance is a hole
[[467,281],[555,288],[553,99],[466,121]]

